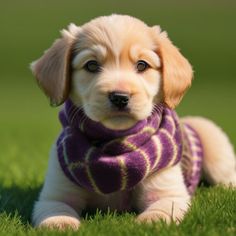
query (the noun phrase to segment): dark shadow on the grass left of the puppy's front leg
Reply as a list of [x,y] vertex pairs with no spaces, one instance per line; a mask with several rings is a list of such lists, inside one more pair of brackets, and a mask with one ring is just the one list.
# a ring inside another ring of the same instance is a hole
[[30,223],[33,204],[40,189],[41,186],[21,188],[16,185],[4,187],[0,184],[0,214],[6,213],[10,217],[17,214],[22,223]]

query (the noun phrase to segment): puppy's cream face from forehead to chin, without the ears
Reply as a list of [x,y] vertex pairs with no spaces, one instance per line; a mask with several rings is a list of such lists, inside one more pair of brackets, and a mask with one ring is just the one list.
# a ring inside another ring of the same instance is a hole
[[119,17],[92,21],[74,50],[71,98],[88,117],[127,128],[151,114],[160,91],[160,58],[145,24]]

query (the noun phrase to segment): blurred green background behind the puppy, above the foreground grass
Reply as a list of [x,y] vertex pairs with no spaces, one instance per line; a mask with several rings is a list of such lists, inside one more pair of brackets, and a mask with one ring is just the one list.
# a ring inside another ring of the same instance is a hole
[[[111,13],[130,14],[166,30],[195,71],[180,115],[216,121],[236,144],[236,1],[0,0],[0,182],[41,183],[60,130],[29,63],[59,30]],[[124,29],[125,30],[125,29]],[[214,137],[212,137],[214,138]],[[36,184],[37,185],[37,184]]]

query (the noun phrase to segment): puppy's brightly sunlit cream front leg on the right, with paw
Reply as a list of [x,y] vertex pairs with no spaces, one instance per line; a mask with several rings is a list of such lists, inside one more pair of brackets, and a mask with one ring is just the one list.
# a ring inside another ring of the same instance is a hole
[[180,165],[150,176],[139,186],[137,206],[144,210],[138,222],[163,219],[180,222],[190,206],[190,196],[184,184]]

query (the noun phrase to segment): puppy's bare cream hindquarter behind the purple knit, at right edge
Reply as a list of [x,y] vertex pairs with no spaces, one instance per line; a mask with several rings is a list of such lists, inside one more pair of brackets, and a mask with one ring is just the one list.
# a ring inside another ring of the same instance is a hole
[[209,183],[236,187],[236,159],[226,134],[205,118],[186,117],[182,121],[192,126],[202,141],[203,171]]

